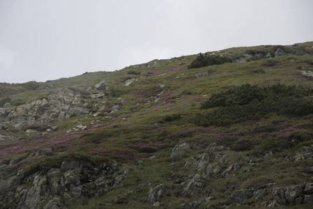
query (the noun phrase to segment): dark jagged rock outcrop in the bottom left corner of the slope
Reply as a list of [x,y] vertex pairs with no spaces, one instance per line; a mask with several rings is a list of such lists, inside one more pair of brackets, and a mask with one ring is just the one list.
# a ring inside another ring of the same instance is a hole
[[[38,157],[45,151],[49,150],[33,153],[29,157]],[[1,162],[0,172],[6,164],[11,164],[11,160]],[[128,173],[128,170],[119,171],[112,162],[91,167],[79,161],[63,162],[61,167],[49,169],[47,173],[40,171],[29,176],[20,170],[5,180],[1,178],[0,198],[8,203],[15,203],[15,208],[56,209],[66,206],[66,200],[105,195],[119,187]]]

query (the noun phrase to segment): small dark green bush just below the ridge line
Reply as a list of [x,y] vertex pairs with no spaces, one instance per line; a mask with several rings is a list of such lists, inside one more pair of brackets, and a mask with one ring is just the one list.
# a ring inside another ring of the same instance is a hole
[[198,54],[197,58],[188,65],[188,69],[203,68],[210,65],[222,65],[223,63],[231,63],[232,60],[227,56]]

